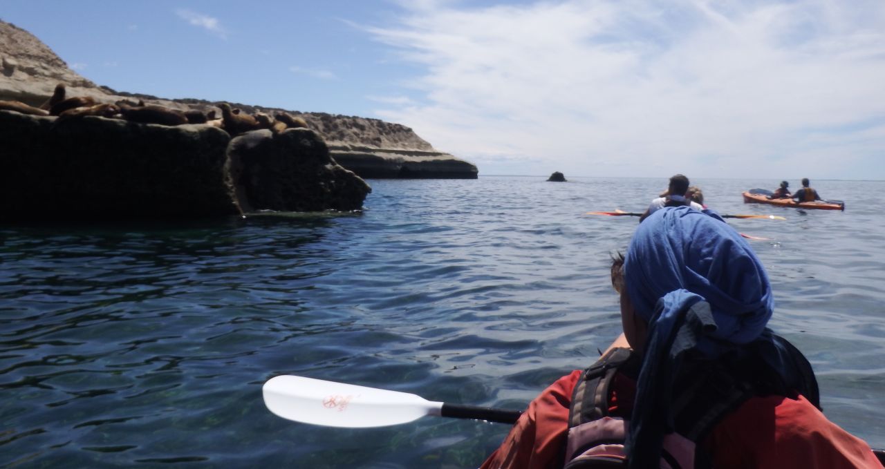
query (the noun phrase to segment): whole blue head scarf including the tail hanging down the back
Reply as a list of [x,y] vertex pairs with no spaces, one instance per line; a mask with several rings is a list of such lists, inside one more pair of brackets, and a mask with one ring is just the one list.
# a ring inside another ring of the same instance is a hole
[[635,313],[649,324],[629,463],[657,467],[663,435],[673,431],[669,403],[685,353],[717,358],[757,340],[772,316],[771,285],[734,228],[689,207],[667,207],[640,223],[624,281]]

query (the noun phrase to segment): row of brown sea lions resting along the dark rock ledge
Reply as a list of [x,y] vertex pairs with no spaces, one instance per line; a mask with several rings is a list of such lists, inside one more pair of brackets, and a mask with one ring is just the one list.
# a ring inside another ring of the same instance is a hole
[[40,107],[34,107],[19,101],[0,101],[0,110],[17,111],[35,116],[57,116],[59,119],[73,119],[83,116],[99,116],[109,119],[124,119],[142,124],[160,124],[164,126],[180,126],[182,124],[205,124],[220,127],[231,136],[240,135],[251,130],[269,129],[278,134],[287,128],[307,127],[307,122],[279,112],[273,118],[258,112],[250,115],[240,109],[231,109],[230,104],[219,105],[221,119],[215,119],[215,111],[179,111],[157,104],[144,104],[143,101],[133,103],[121,100],[114,104],[98,103],[89,96],[65,97],[65,85],[59,83],[49,99]]

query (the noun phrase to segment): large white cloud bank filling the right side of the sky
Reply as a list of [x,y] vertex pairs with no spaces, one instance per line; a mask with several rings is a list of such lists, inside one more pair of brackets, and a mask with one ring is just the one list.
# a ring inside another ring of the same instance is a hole
[[366,30],[423,99],[379,114],[481,173],[885,179],[879,1],[401,6]]

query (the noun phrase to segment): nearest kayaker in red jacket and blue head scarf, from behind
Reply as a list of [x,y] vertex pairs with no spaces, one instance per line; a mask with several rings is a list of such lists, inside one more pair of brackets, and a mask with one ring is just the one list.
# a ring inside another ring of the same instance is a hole
[[659,210],[613,259],[612,286],[624,334],[537,396],[482,469],[881,467],[824,417],[808,361],[766,328],[771,285],[733,228]]

